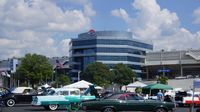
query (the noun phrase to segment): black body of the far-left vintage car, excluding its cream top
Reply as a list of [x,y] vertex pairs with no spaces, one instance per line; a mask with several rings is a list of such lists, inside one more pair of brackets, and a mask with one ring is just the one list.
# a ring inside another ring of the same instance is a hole
[[9,89],[0,87],[0,96],[3,103],[8,106],[12,107],[16,103],[28,103],[30,104],[32,101],[32,96],[37,95],[34,94],[14,94]]

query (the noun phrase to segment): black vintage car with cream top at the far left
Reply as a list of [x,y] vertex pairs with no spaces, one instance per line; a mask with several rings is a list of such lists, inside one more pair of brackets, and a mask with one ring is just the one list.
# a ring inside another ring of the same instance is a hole
[[7,88],[0,87],[0,96],[3,103],[12,107],[16,103],[31,103],[32,96],[37,95],[32,88],[29,87],[17,87],[10,91]]

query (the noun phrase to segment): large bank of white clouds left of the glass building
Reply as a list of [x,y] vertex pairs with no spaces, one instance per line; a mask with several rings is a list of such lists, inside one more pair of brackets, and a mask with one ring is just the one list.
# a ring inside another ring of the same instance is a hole
[[79,1],[82,9],[62,10],[51,0],[0,0],[0,59],[25,53],[68,55],[65,37],[55,35],[89,29],[96,14],[89,0]]

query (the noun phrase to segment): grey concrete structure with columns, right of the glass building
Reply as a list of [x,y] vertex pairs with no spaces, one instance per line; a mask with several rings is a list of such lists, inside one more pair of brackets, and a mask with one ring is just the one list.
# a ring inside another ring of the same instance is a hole
[[200,50],[160,51],[147,53],[143,72],[146,79],[166,75],[200,76]]

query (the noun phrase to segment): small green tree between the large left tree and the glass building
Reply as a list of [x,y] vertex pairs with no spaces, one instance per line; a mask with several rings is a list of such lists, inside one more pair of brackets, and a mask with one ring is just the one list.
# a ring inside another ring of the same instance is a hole
[[70,83],[71,83],[71,81],[70,81],[69,77],[64,74],[59,74],[59,76],[56,80],[56,84],[58,84],[58,86],[68,85]]

